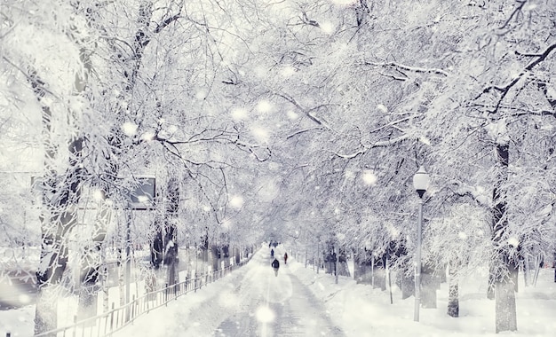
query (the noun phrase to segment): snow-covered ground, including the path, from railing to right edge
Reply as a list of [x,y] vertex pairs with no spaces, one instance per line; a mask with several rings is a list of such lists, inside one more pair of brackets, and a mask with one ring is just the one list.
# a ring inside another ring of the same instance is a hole
[[[283,254],[279,247],[278,256]],[[540,271],[536,287],[520,284],[518,332],[495,333],[494,302],[486,298],[485,280],[460,285],[460,317],[446,315],[448,290],[438,291],[438,308],[421,309],[413,321],[413,298],[357,285],[353,279],[316,274],[290,256],[278,276],[263,248],[246,266],[215,283],[139,317],[114,334],[124,336],[554,336],[554,270]],[[520,278],[522,282],[522,277]],[[0,337],[32,332],[34,307],[0,311]]]

